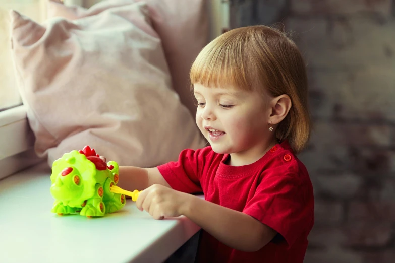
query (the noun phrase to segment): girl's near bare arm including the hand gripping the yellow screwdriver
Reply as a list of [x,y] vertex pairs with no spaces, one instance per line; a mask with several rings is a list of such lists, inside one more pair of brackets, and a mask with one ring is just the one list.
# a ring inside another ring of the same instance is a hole
[[140,192],[136,206],[155,219],[185,215],[225,245],[242,251],[257,251],[276,235],[245,213],[158,184]]

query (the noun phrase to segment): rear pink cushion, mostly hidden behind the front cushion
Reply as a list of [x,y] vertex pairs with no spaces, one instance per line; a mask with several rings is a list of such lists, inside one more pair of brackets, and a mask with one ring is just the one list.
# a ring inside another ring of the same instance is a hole
[[194,115],[196,107],[188,76],[193,59],[209,40],[207,0],[106,0],[88,10],[77,6],[67,7],[59,0],[50,0],[48,14],[77,19],[138,1],[147,3],[153,28],[162,41],[173,87]]

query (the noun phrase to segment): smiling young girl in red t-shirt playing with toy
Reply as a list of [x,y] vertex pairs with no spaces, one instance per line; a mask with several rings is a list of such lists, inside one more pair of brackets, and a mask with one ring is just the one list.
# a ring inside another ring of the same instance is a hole
[[145,189],[136,205],[155,219],[199,225],[198,262],[302,263],[314,199],[295,156],[311,128],[297,46],[270,27],[237,28],[200,52],[190,79],[210,146],[155,168],[120,167],[120,186]]

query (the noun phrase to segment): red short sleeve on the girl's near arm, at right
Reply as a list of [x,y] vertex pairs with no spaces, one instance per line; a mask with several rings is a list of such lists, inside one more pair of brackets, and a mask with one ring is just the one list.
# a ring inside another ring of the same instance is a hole
[[294,175],[262,180],[243,212],[271,227],[292,246],[308,233],[314,217],[314,199],[308,184]]

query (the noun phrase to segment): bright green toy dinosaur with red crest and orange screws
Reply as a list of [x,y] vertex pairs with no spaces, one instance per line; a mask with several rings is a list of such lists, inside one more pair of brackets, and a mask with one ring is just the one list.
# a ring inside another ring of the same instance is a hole
[[65,153],[52,164],[50,192],[55,202],[51,212],[101,217],[118,211],[126,203],[124,194],[110,192],[118,181],[118,164],[105,163],[89,146]]

